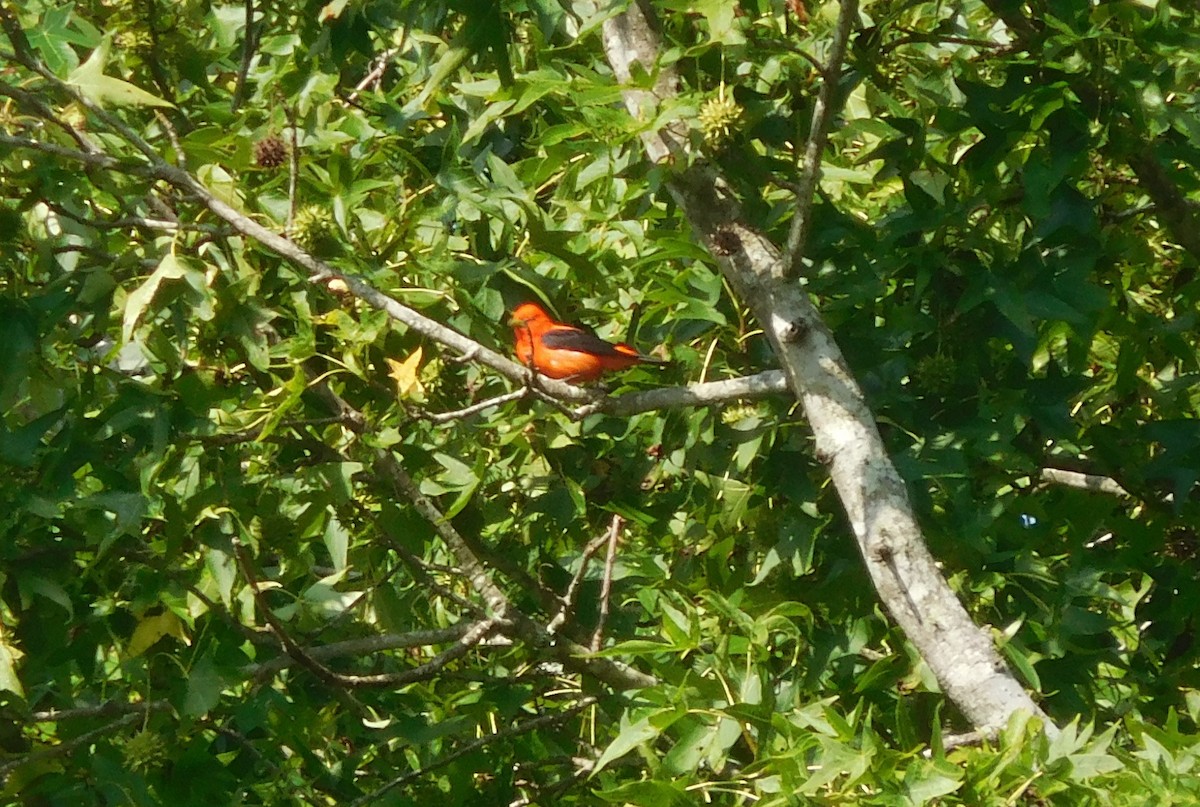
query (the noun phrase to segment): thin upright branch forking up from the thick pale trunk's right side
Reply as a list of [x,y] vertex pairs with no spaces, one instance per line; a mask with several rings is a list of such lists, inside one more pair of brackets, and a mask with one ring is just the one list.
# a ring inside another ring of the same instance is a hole
[[804,147],[804,167],[800,169],[800,189],[796,195],[796,213],[792,214],[792,227],[787,233],[787,245],[784,247],[786,274],[799,275],[803,271],[804,247],[812,223],[812,199],[821,178],[821,157],[829,141],[829,121],[833,118],[834,98],[841,78],[841,62],[846,58],[846,42],[857,19],[858,0],[841,0],[838,26],[829,44],[829,58],[821,68],[821,91],[817,92],[812,106],[812,122],[809,126],[808,144]]

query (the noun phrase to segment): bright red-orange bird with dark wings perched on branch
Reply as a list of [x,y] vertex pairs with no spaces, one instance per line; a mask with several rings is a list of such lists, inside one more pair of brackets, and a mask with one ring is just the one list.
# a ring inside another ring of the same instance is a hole
[[551,378],[581,383],[635,364],[667,364],[638,353],[625,342],[606,342],[583,328],[554,322],[536,303],[518,305],[510,323],[517,359]]

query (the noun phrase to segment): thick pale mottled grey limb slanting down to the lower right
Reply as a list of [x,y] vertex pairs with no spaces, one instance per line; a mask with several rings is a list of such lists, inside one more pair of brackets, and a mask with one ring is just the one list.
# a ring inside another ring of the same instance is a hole
[[[631,74],[634,62],[652,70],[659,48],[643,7],[634,5],[618,19],[605,25],[613,72]],[[623,36],[628,30],[636,35]],[[643,141],[653,142],[653,134]],[[654,149],[648,154],[656,159]],[[809,295],[788,276],[787,256],[745,223],[728,184],[713,169],[694,165],[682,171],[671,191],[770,339],[880,598],[946,694],[985,731],[1000,729],[1018,712],[1045,718],[941,576],[863,390]],[[1048,718],[1045,725],[1056,730]]]

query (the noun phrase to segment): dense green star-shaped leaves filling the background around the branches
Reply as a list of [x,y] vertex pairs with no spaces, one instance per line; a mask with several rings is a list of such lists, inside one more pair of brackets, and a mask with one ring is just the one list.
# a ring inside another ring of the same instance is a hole
[[[2,5],[5,799],[1196,799],[1196,10],[859,10],[798,282],[952,585],[1066,727],[947,749],[971,727],[791,397],[432,418],[518,385],[155,168],[493,349],[541,299],[672,359],[616,394],[768,370],[599,5]],[[838,4],[655,6],[677,160],[782,243]],[[653,679],[484,624],[446,525],[521,614]]]

